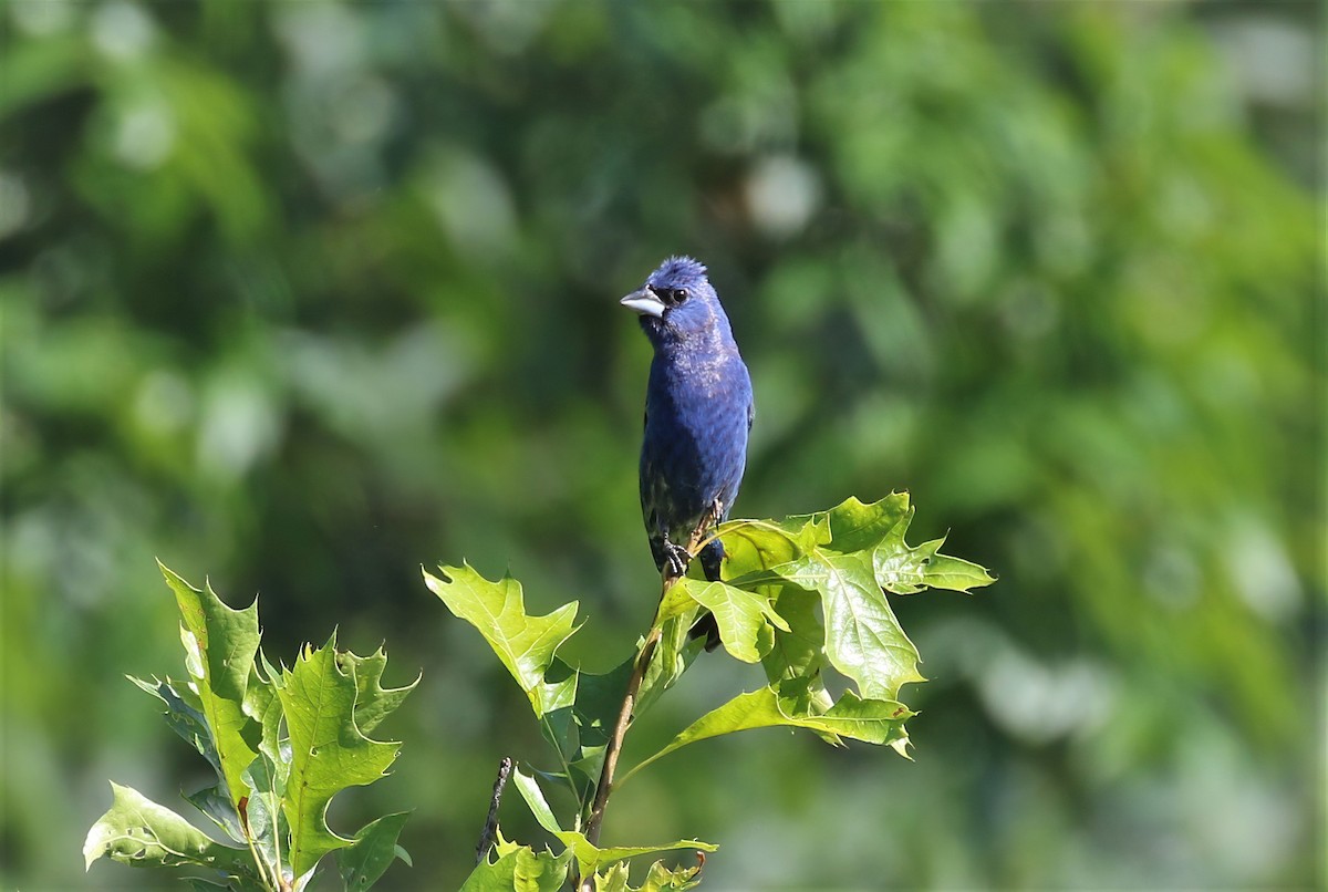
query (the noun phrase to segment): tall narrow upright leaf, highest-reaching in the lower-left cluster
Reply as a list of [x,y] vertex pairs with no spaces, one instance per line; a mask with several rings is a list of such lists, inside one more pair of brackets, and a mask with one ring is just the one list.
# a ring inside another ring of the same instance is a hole
[[259,642],[258,599],[243,611],[232,611],[211,585],[197,589],[161,561],[157,565],[175,592],[182,617],[181,640],[198,711],[211,731],[220,779],[238,807],[240,798],[247,795],[240,775],[254,761],[260,735],[260,729],[243,709]]

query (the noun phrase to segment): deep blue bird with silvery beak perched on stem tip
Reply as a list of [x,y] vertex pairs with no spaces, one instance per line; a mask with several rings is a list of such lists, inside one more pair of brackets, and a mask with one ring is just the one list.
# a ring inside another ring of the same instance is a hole
[[[655,349],[645,385],[641,439],[641,516],[655,567],[665,584],[687,572],[693,532],[724,522],[746,470],[756,406],[752,376],[704,264],[672,256],[620,301],[637,313]],[[699,555],[705,579],[720,579],[724,544]],[[692,636],[718,645],[706,613]]]

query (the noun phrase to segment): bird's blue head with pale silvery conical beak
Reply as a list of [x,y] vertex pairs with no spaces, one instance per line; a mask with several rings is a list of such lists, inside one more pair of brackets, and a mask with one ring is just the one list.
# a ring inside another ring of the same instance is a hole
[[720,297],[705,277],[705,265],[692,258],[669,258],[622,304],[636,311],[655,346],[732,337]]

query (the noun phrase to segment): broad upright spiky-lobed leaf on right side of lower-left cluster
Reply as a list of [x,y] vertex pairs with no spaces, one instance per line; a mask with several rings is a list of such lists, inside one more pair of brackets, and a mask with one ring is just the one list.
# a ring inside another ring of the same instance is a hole
[[290,863],[296,876],[352,843],[327,826],[332,796],[381,778],[401,747],[371,741],[356,727],[356,680],[337,666],[335,650],[335,633],[323,648],[305,645],[295,666],[282,673],[278,690],[291,735],[291,775],[282,808],[291,826]]

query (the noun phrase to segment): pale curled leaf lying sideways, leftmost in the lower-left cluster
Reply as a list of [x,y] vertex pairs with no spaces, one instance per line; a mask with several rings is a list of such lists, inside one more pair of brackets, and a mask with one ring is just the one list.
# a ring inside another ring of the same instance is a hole
[[166,806],[137,790],[110,784],[112,806],[88,831],[84,864],[106,856],[133,867],[194,864],[256,881],[250,854],[210,839]]

